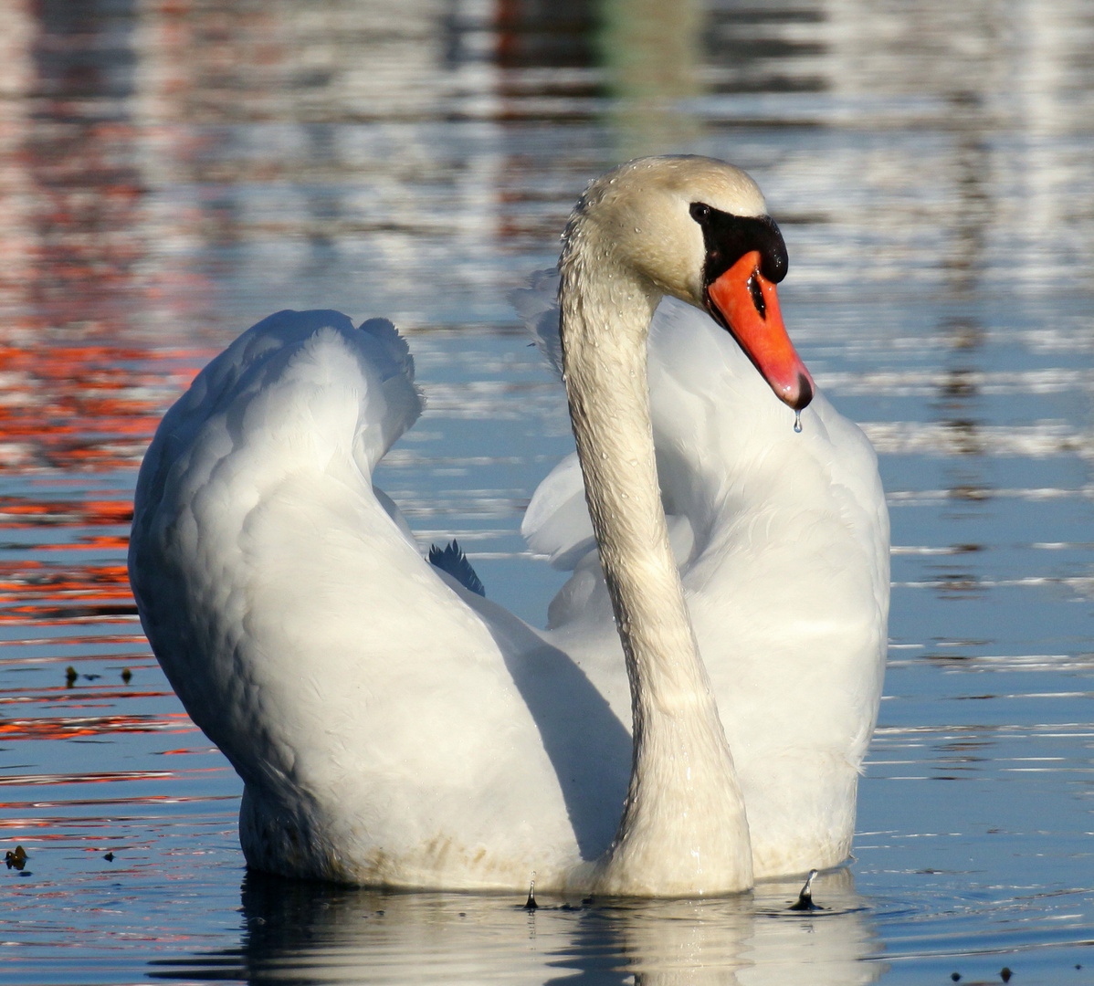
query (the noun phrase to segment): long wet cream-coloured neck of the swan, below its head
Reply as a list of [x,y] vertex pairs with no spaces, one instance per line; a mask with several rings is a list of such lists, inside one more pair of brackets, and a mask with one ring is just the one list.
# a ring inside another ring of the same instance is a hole
[[635,744],[622,818],[594,889],[663,896],[745,890],[752,849],[744,802],[657,484],[645,343],[660,294],[598,249],[580,218],[560,268],[570,418],[627,660]]

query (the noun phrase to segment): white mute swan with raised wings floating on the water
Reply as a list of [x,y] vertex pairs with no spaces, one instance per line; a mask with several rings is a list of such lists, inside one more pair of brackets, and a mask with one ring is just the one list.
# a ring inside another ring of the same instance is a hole
[[544,633],[430,566],[372,484],[421,408],[389,322],[282,312],[198,375],[141,467],[129,572],[244,780],[248,865],[683,896],[847,857],[888,523],[787,338],[785,267],[722,162],[641,159],[578,202],[558,297],[587,493],[565,461],[528,509],[574,567]]

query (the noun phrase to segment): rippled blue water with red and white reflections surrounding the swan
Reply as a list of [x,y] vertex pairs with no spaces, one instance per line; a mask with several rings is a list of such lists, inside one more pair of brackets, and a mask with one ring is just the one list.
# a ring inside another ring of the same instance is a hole
[[[27,853],[0,981],[1094,983],[1086,4],[2,0],[0,25],[0,844]],[[240,784],[125,578],[159,415],[276,308],[393,317],[430,403],[380,481],[542,622],[559,577],[517,526],[571,439],[505,292],[590,177],[665,150],[760,181],[787,324],[881,454],[856,860],[813,913],[790,883],[529,914],[245,876]]]

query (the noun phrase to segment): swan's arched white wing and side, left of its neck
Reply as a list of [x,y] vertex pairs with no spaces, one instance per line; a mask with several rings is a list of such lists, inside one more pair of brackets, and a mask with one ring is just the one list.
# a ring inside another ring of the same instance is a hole
[[[142,623],[246,783],[252,865],[484,888],[538,867],[549,882],[580,861],[579,836],[520,685],[531,667],[561,697],[577,669],[500,608],[473,608],[393,523],[371,470],[420,410],[389,322],[280,313],[245,332],[142,467]],[[618,806],[602,814],[586,829],[606,844]]]

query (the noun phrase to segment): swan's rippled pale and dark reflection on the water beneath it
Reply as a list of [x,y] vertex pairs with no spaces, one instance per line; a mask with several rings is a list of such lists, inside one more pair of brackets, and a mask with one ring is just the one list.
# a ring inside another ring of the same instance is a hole
[[542,900],[392,893],[248,872],[240,947],[150,963],[155,979],[247,983],[487,981],[642,986],[856,986],[886,971],[847,870],[822,875],[823,909],[789,909],[801,881],[710,901]]

